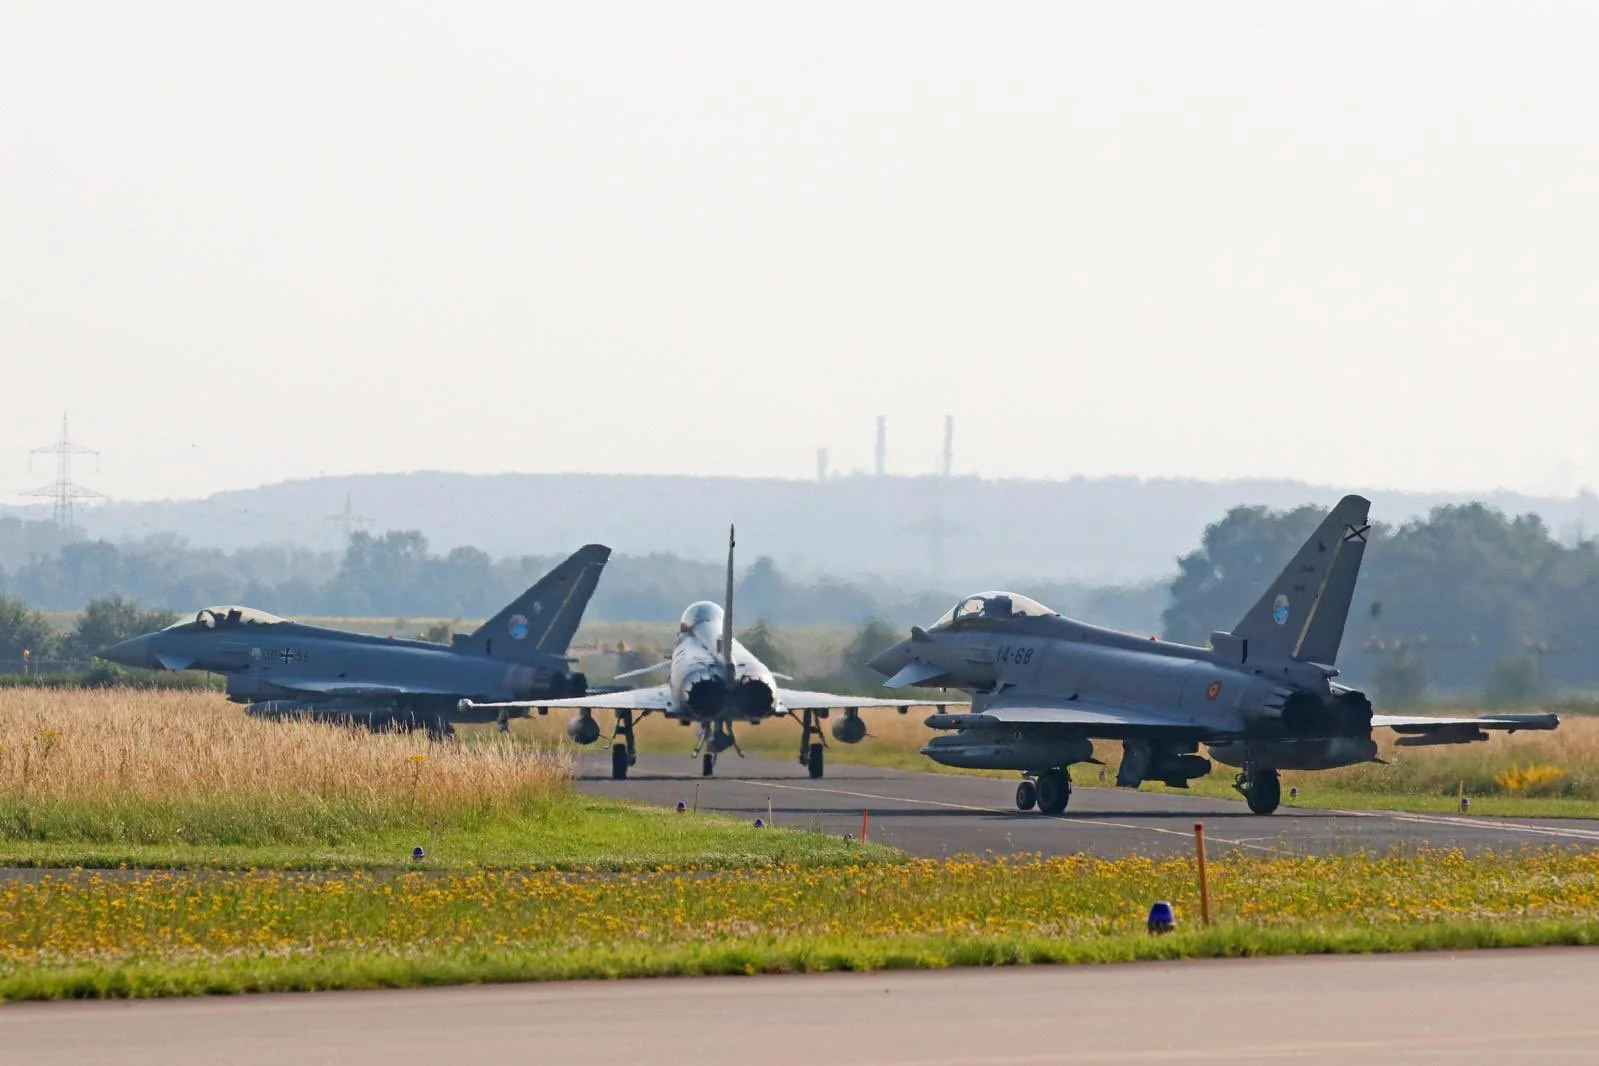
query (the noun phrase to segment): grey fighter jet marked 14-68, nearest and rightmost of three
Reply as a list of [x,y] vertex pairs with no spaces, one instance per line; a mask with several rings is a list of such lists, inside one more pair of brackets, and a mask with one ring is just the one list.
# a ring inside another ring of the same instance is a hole
[[1020,770],[1020,810],[1060,813],[1070,767],[1094,761],[1092,740],[1121,740],[1116,783],[1186,788],[1209,754],[1238,767],[1234,788],[1268,815],[1279,770],[1329,770],[1377,759],[1372,730],[1401,745],[1487,740],[1487,730],[1554,729],[1554,714],[1422,718],[1374,714],[1366,694],[1334,681],[1343,623],[1366,553],[1370,503],[1346,495],[1287,569],[1210,647],[1138,638],[1083,622],[1014,593],[980,593],[871,660],[887,687],[947,686],[974,694],[969,713],[934,714],[947,730],[923,754],[959,767]]

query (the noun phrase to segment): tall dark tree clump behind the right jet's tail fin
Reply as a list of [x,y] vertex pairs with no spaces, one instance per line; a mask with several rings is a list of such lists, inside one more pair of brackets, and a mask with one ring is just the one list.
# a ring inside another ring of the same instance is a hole
[[[1326,508],[1238,507],[1178,559],[1162,628],[1204,642],[1234,625]],[[1524,702],[1599,686],[1599,543],[1481,503],[1375,524],[1338,668],[1390,705],[1482,692]]]

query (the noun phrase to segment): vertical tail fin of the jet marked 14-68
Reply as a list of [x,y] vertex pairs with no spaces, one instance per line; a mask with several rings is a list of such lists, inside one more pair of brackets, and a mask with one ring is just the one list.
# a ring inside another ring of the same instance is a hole
[[1297,658],[1334,665],[1361,572],[1372,502],[1346,495],[1316,527],[1265,595],[1233,626],[1250,662]]

